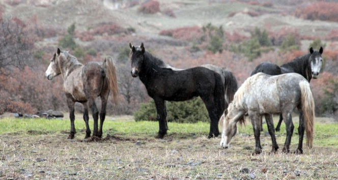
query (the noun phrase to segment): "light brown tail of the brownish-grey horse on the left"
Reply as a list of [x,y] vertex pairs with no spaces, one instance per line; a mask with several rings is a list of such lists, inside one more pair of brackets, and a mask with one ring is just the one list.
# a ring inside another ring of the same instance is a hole
[[103,63],[104,74],[108,79],[108,86],[112,92],[112,101],[115,104],[118,104],[119,100],[119,87],[118,87],[118,78],[116,73],[115,64],[112,61],[112,58],[104,59]]

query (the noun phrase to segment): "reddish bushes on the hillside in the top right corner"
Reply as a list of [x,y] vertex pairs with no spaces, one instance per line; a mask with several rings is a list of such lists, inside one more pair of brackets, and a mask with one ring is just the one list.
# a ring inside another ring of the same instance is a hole
[[309,20],[324,20],[338,22],[338,3],[315,2],[299,9],[295,16]]

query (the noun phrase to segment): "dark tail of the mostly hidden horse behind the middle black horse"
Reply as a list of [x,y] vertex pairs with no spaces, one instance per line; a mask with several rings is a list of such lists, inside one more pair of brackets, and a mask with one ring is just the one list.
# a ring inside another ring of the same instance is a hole
[[224,91],[226,93],[227,102],[229,104],[234,100],[235,93],[238,89],[238,84],[232,72],[228,70],[223,70],[222,73],[225,78]]

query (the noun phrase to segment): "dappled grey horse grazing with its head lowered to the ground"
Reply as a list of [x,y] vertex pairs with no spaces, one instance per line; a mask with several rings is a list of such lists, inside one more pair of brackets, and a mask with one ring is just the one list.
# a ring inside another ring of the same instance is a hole
[[260,142],[260,116],[266,115],[268,131],[272,140],[272,152],[278,145],[274,136],[272,115],[282,114],[286,124],[287,138],[283,152],[289,153],[294,125],[292,112],[299,110],[299,143],[296,153],[302,154],[304,130],[306,130],[306,145],[312,148],[315,103],[308,81],[299,74],[288,73],[271,76],[257,73],[245,80],[235,94],[234,101],[229,105],[220,119],[222,139],[220,146],[228,148],[232,137],[237,132],[237,123],[244,123],[244,115],[248,113],[255,134],[256,148],[253,154],[262,152]]

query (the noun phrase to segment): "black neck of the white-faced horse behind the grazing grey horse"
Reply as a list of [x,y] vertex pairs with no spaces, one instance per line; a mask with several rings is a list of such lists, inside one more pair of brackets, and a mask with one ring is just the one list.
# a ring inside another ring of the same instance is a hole
[[290,71],[302,75],[308,81],[311,80],[311,65],[309,64],[309,57],[311,54],[306,54],[301,57],[295,58],[292,62],[281,65],[280,67],[286,68]]

